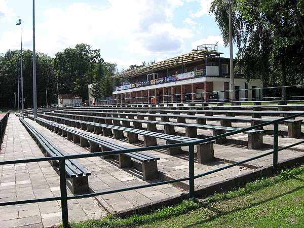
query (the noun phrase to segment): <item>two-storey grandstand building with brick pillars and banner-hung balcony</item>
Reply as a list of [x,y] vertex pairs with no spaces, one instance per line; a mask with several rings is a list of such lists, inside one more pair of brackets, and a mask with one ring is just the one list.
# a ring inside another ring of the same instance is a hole
[[[217,45],[202,45],[184,55],[166,59],[113,75],[122,85],[114,88],[118,104],[225,101],[229,100],[230,59],[221,57]],[[259,80],[247,82],[242,72],[235,73],[235,91],[239,100],[258,97]]]

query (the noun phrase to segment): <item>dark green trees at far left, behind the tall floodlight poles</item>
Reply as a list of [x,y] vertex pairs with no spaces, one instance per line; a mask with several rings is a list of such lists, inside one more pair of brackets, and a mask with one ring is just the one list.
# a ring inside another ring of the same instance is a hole
[[[8,51],[0,56],[0,107],[15,106],[15,95],[18,102],[17,92],[17,59],[20,51]],[[19,68],[20,68],[19,63]],[[21,99],[21,69],[19,69],[19,91]],[[33,103],[32,90],[32,52],[23,50],[23,95],[24,107],[31,107]],[[46,92],[48,88],[48,101],[54,103],[57,100],[56,79],[53,67],[53,58],[44,53],[36,53],[36,84],[37,105],[46,105]],[[17,103],[18,108],[18,103]],[[21,104],[20,104],[21,108]]]

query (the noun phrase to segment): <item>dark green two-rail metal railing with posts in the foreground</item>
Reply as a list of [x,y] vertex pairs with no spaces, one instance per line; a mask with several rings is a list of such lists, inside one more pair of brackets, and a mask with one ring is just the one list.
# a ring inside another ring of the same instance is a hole
[[[203,176],[207,176],[212,173],[219,172],[224,169],[228,169],[234,166],[238,166],[241,164],[244,164],[246,162],[250,162],[259,158],[263,158],[265,156],[273,155],[273,169],[276,170],[278,166],[278,152],[290,148],[295,145],[299,145],[304,142],[304,140],[293,143],[288,146],[284,147],[278,147],[278,124],[279,122],[293,119],[296,117],[304,116],[304,112],[298,113],[296,115],[292,115],[289,117],[277,119],[274,121],[270,121],[267,123],[263,124],[258,124],[252,127],[240,129],[237,131],[217,135],[217,136],[212,136],[209,138],[197,140],[195,142],[185,142],[185,143],[174,143],[174,144],[167,144],[167,145],[156,145],[156,146],[148,146],[148,147],[141,147],[141,148],[131,148],[131,149],[122,149],[122,150],[114,150],[114,151],[104,151],[104,152],[96,152],[92,154],[73,154],[73,155],[66,155],[62,157],[43,157],[43,158],[32,158],[32,159],[20,159],[20,160],[8,160],[8,161],[0,161],[0,165],[11,165],[11,164],[20,164],[20,163],[32,163],[32,162],[44,162],[44,161],[59,161],[59,176],[60,176],[60,196],[58,197],[46,197],[46,198],[38,198],[38,199],[28,199],[28,200],[16,200],[16,201],[8,201],[8,202],[0,202],[0,206],[7,206],[7,205],[17,205],[17,204],[27,204],[27,203],[38,203],[38,202],[48,202],[48,201],[55,201],[55,200],[61,200],[61,208],[62,208],[62,223],[64,227],[68,227],[68,200],[72,199],[80,199],[80,198],[88,198],[88,197],[95,197],[95,196],[101,196],[101,195],[106,195],[106,194],[111,194],[111,193],[119,193],[119,192],[125,192],[125,191],[130,191],[134,189],[139,189],[139,188],[145,188],[145,187],[151,187],[151,186],[157,186],[157,185],[163,185],[163,184],[171,184],[175,182],[180,182],[180,181],[188,181],[189,182],[189,193],[188,197],[189,198],[194,198],[195,197],[195,179]],[[217,168],[215,170],[211,170],[208,172],[196,174],[194,173],[194,146],[200,143],[205,143],[209,142],[211,140],[239,134],[248,130],[260,128],[263,126],[268,126],[268,125],[274,125],[274,141],[273,141],[273,150],[269,151],[268,153],[264,153],[258,156],[255,156],[253,158],[249,158],[240,162],[236,162],[230,165],[226,165],[221,168]],[[148,184],[143,184],[143,185],[138,185],[138,186],[132,186],[132,187],[125,187],[125,188],[119,188],[119,189],[113,189],[110,191],[98,191],[95,193],[88,193],[88,194],[82,194],[82,195],[72,195],[68,196],[67,191],[66,191],[66,176],[65,176],[65,161],[67,159],[81,159],[81,158],[89,158],[89,157],[99,157],[99,156],[107,156],[107,155],[119,155],[119,154],[126,154],[126,153],[132,153],[132,152],[139,152],[139,151],[147,151],[147,150],[155,150],[155,149],[165,149],[165,148],[170,148],[170,147],[180,147],[180,146],[188,146],[189,147],[189,168],[188,168],[188,176],[184,178],[179,178],[179,179],[174,179],[174,180],[168,180],[168,181],[163,181],[163,182],[156,182],[156,183],[148,183]]]

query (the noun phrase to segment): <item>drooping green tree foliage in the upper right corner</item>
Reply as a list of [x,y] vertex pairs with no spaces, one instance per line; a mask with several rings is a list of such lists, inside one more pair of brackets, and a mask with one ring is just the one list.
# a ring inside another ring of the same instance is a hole
[[[303,0],[235,0],[232,5],[233,39],[237,59],[248,80],[264,86],[304,82]],[[214,0],[210,9],[229,43],[228,7]]]

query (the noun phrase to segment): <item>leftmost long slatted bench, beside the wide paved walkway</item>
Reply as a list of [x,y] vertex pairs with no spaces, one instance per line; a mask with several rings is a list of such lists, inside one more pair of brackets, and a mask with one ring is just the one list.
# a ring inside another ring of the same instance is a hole
[[[36,141],[36,143],[39,145],[39,147],[42,149],[42,152],[46,157],[61,157],[66,155],[61,149],[54,145],[54,143],[52,143],[44,134],[39,132],[37,129],[35,129],[22,118],[20,118],[19,120],[25,127],[25,129],[28,131],[28,133],[32,136],[32,138]],[[54,168],[59,167],[58,160],[51,161],[50,164]],[[81,166],[77,161],[68,159],[65,160],[65,170],[68,178],[67,185],[73,194],[89,192],[88,176],[91,175],[91,173],[86,168]]]

